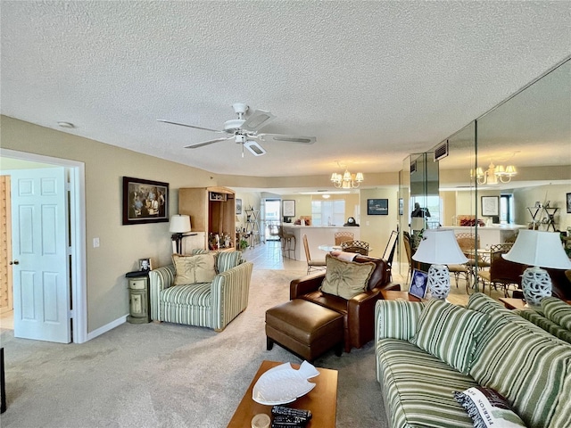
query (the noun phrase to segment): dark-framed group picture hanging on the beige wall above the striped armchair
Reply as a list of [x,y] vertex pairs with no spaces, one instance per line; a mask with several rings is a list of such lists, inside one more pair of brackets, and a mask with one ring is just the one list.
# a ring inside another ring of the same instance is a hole
[[123,177],[123,225],[169,221],[169,183]]

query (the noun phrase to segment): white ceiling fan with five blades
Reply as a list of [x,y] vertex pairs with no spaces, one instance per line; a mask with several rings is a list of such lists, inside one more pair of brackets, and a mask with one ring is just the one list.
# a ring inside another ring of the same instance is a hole
[[258,134],[258,130],[265,127],[276,116],[269,111],[256,110],[248,119],[244,119],[246,111],[249,107],[244,103],[234,103],[232,108],[236,112],[238,119],[230,119],[224,122],[224,129],[211,129],[187,125],[186,123],[173,122],[166,119],[157,119],[159,122],[170,123],[186,128],[202,129],[204,131],[218,132],[226,134],[220,138],[214,138],[202,143],[186,145],[186,149],[196,149],[204,145],[218,143],[220,141],[234,140],[236,144],[242,144],[242,157],[244,158],[244,147],[248,149],[254,156],[266,154],[266,150],[254,140],[263,142],[282,141],[285,143],[313,144],[316,141],[315,136],[285,136],[281,134]]

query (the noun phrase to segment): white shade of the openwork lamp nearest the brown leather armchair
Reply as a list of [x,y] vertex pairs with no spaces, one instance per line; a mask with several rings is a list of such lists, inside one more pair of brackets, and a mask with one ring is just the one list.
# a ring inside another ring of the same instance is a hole
[[412,259],[431,265],[461,264],[468,261],[460,250],[454,231],[444,229],[425,230]]

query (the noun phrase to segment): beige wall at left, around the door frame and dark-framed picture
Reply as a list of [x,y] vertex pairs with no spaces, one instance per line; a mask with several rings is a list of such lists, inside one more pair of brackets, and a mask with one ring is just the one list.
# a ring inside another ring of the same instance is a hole
[[[137,260],[153,258],[155,266],[170,263],[169,223],[121,224],[122,177],[170,184],[170,215],[178,212],[178,188],[218,185],[217,177],[153,156],[43,128],[2,116],[2,147],[19,152],[80,161],[86,174],[87,333],[128,314],[125,274]],[[93,238],[100,247],[93,248]]]

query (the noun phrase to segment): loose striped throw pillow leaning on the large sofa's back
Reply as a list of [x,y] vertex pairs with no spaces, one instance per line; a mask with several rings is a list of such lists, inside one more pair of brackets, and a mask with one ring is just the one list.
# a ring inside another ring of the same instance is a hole
[[478,335],[488,316],[445,300],[430,300],[420,313],[417,334],[410,340],[418,348],[468,374]]

